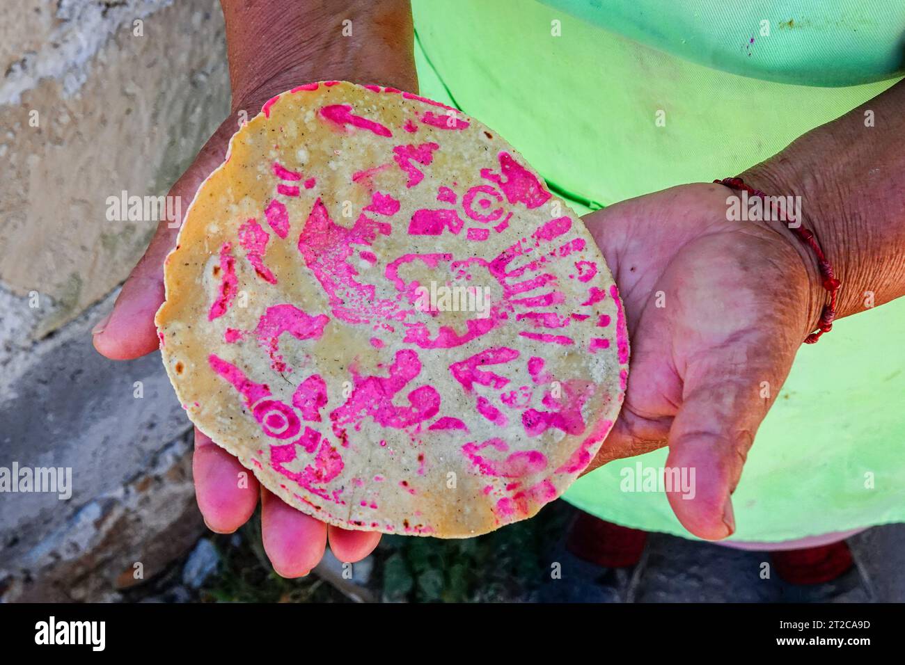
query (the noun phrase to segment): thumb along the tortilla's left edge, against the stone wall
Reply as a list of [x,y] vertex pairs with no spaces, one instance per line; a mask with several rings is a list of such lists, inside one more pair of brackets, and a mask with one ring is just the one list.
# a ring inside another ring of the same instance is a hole
[[164,261],[176,244],[179,227],[198,187],[223,163],[235,127],[232,121],[224,122],[195,157],[192,166],[170,189],[167,196],[177,197],[179,202],[176,220],[162,220],[157,225],[148,250],[123,284],[110,314],[91,331],[94,348],[102,356],[111,360],[130,360],[157,350],[159,342],[154,315],[164,301]]

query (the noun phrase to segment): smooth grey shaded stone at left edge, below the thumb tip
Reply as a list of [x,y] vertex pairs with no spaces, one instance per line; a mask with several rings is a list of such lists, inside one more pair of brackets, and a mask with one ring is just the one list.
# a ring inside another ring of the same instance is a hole
[[[110,301],[97,309],[109,309]],[[14,560],[78,507],[148,469],[190,425],[159,354],[114,363],[94,351],[90,328],[98,316],[92,310],[34,345],[27,371],[2,391],[0,466],[70,467],[73,489],[67,501],[5,495],[0,560]]]

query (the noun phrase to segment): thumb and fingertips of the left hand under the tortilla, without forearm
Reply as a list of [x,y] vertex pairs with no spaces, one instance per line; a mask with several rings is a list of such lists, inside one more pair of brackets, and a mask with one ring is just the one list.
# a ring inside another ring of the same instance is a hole
[[[248,117],[260,108],[261,103],[245,105]],[[229,139],[238,128],[236,114],[224,120],[192,166],[170,189],[170,196],[181,197],[183,214],[205,177],[223,163]],[[158,225],[148,251],[123,285],[110,318],[95,328],[94,347],[102,355],[113,360],[129,360],[157,350],[154,315],[164,300],[163,264],[176,243],[182,219],[177,222],[164,221]],[[328,538],[333,554],[346,562],[364,558],[380,540],[378,533],[328,527],[260,487],[253,475],[247,487],[240,488],[237,479],[245,471],[242,464],[197,429],[192,470],[198,508],[207,526],[217,533],[232,533],[248,521],[260,494],[264,550],[273,569],[284,577],[307,575],[324,555]]]

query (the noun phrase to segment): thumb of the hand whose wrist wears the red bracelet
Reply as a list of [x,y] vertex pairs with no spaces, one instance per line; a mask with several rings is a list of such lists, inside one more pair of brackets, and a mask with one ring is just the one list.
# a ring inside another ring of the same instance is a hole
[[670,428],[666,489],[676,517],[697,537],[719,540],[735,532],[730,495],[772,403],[762,382],[778,390],[788,371],[776,371],[763,356],[760,366],[750,366],[747,359],[757,355],[726,350],[686,375]]

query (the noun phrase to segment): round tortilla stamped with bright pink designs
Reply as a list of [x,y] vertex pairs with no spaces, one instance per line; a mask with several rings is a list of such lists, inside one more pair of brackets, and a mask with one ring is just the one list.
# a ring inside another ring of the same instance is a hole
[[164,272],[189,418],[339,527],[529,518],[624,399],[622,302],[584,224],[495,132],[411,93],[326,81],[268,101]]

